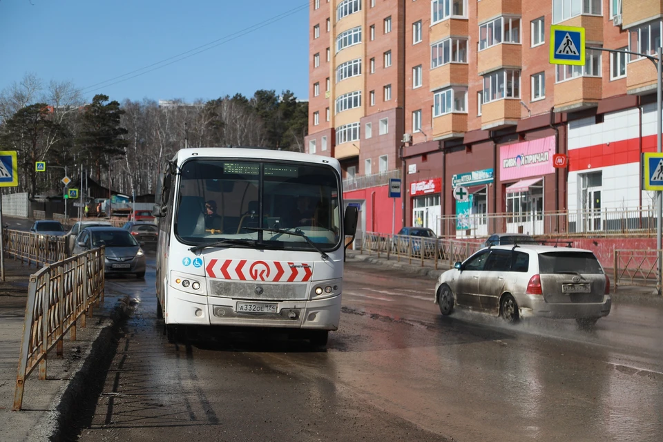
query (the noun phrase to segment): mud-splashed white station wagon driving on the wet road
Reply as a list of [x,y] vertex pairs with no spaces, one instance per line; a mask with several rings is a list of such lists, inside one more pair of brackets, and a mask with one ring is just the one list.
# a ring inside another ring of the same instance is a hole
[[463,307],[509,323],[544,316],[590,327],[610,313],[609,293],[610,280],[591,251],[509,245],[481,249],[445,271],[435,303],[443,315]]

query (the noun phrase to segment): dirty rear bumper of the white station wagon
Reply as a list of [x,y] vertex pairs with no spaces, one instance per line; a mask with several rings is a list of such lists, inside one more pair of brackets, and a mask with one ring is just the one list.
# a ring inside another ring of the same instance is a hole
[[612,299],[604,295],[601,302],[564,302],[549,303],[540,295],[516,296],[520,316],[541,316],[544,318],[575,319],[601,318],[610,314]]

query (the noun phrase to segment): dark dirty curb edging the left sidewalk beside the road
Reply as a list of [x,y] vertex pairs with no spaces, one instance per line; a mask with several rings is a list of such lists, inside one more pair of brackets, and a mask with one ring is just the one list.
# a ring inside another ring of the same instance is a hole
[[70,435],[75,431],[77,416],[85,412],[90,399],[96,399],[97,393],[101,392],[104,386],[105,376],[99,385],[97,374],[105,372],[113,361],[113,344],[117,341],[119,327],[128,316],[128,306],[129,297],[123,296],[117,300],[106,318],[96,317],[102,320],[104,327],[99,329],[92,345],[86,349],[81,361],[72,370],[73,377],[53,399],[50,407],[52,411],[45,414],[31,432],[29,442],[70,440],[66,434]]

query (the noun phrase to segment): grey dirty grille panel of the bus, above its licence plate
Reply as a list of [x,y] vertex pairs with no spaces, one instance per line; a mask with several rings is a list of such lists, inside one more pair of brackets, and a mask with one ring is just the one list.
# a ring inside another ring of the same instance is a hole
[[[262,287],[262,293],[258,287]],[[258,290],[256,290],[258,289]],[[306,300],[307,284],[274,284],[272,282],[236,282],[227,280],[210,280],[209,296],[223,296],[236,299],[257,300]]]

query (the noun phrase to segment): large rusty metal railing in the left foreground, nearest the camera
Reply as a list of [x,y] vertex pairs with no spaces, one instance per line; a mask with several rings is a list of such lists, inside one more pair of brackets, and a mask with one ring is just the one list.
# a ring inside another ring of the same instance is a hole
[[12,410],[21,410],[26,378],[35,368],[46,379],[48,352],[55,348],[62,357],[66,334],[76,340],[77,321],[86,327],[93,307],[104,302],[104,259],[103,247],[93,249],[30,276]]

